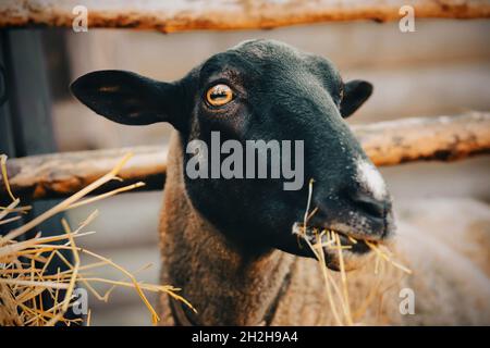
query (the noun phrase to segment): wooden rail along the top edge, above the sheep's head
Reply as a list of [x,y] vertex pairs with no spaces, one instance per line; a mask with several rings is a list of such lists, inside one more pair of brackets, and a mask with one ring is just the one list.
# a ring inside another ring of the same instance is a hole
[[274,28],[331,21],[397,21],[403,5],[412,5],[416,18],[490,17],[488,0],[2,0],[0,27],[72,27],[76,5],[88,10],[89,28],[163,33]]

